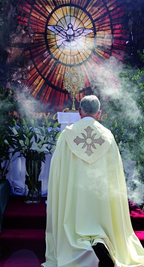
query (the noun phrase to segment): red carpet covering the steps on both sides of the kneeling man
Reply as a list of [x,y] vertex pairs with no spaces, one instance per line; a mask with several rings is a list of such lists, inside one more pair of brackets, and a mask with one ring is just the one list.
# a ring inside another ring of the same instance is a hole
[[[22,196],[10,197],[0,234],[1,267],[39,267],[45,261],[45,201],[26,204]],[[134,232],[144,247],[144,212],[133,202],[129,206]]]

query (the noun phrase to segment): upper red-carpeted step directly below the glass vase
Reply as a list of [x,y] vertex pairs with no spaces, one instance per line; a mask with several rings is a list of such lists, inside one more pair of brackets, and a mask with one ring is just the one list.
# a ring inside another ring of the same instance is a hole
[[3,228],[46,229],[46,199],[27,204],[24,196],[11,196],[3,215]]

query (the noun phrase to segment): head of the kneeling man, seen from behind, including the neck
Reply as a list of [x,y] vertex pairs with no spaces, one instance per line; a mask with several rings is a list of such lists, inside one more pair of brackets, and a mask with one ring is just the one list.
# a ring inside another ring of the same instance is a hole
[[78,109],[80,118],[82,119],[88,116],[94,119],[97,118],[99,116],[99,108],[100,102],[96,96],[85,96],[81,99]]

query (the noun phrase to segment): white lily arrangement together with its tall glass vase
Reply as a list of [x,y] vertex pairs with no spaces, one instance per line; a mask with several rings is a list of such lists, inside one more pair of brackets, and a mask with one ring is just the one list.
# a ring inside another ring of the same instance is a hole
[[16,152],[18,157],[26,159],[26,180],[25,180],[25,202],[39,203],[42,195],[42,181],[39,181],[39,174],[42,169],[42,162],[46,161],[46,154],[52,154],[56,141],[60,135],[58,122],[51,126],[35,127],[33,119],[28,123],[23,119],[20,126],[15,119],[14,127],[10,128],[11,139],[5,143],[12,149],[12,155]]

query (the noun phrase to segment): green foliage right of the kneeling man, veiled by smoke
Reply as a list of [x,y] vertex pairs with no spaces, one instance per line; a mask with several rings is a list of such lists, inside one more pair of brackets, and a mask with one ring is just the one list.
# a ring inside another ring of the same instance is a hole
[[108,119],[103,124],[113,133],[121,157],[135,162],[144,183],[144,68],[124,65],[119,78],[120,97],[107,100]]

